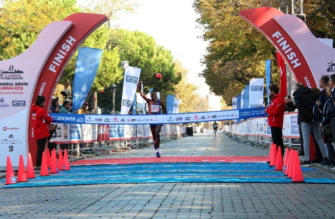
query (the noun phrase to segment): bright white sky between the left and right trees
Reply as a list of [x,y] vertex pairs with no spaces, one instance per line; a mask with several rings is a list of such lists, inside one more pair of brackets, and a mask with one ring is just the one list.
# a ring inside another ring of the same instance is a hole
[[[85,2],[85,0],[78,1]],[[189,70],[189,82],[200,85],[199,92],[209,94],[204,78],[198,77],[204,67],[200,59],[206,53],[207,42],[198,39],[203,31],[196,28],[197,15],[192,7],[193,0],[137,0],[140,4],[137,14],[124,14],[119,28],[142,31],[153,36],[156,43],[169,49]],[[113,23],[112,23],[113,25]],[[164,77],[164,75],[162,75]]]

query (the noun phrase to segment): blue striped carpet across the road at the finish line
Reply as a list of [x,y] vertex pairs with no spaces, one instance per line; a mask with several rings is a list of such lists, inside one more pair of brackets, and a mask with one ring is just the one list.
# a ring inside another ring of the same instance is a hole
[[[318,171],[302,167],[303,172]],[[328,178],[306,178],[305,183],[335,183]],[[50,176],[37,176],[28,182],[2,188],[106,183],[291,183],[282,171],[267,163],[154,163],[123,165],[71,166]],[[0,180],[5,183],[5,179]]]

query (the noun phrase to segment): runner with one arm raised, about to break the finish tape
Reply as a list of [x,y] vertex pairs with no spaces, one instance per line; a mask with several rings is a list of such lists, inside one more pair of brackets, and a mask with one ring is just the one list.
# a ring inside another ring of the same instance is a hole
[[[163,102],[161,102],[160,100],[157,99],[157,92],[156,91],[151,91],[150,92],[150,96],[151,99],[147,98],[142,90],[141,90],[141,84],[137,85],[137,88],[140,90],[140,95],[141,97],[143,97],[143,99],[148,103],[148,107],[149,107],[149,114],[162,114],[162,111],[164,114],[166,114],[166,107],[163,104]],[[152,134],[152,139],[153,139],[153,146],[156,150],[156,157],[160,158],[159,155],[159,144],[160,144],[160,136],[159,136],[159,132],[160,129],[162,128],[163,124],[155,124],[155,125],[151,125],[150,124],[150,130],[151,130],[151,134]]]

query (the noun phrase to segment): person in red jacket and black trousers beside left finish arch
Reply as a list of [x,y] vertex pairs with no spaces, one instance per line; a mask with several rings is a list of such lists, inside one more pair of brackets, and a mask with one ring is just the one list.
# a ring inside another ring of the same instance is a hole
[[52,118],[45,110],[45,97],[38,95],[35,105],[31,105],[32,127],[34,128],[34,138],[37,141],[36,170],[41,170],[42,155],[50,135],[50,124]]

